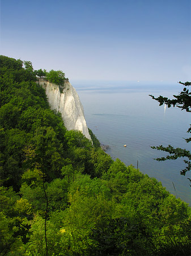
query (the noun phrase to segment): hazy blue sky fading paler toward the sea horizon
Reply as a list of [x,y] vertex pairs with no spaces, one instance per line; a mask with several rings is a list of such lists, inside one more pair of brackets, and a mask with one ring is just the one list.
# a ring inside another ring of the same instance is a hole
[[1,55],[71,80],[190,81],[190,0],[2,0]]

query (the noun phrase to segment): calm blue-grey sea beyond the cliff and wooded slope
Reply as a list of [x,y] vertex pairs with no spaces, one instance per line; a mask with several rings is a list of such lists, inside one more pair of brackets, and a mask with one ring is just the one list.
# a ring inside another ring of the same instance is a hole
[[[141,82],[72,82],[80,97],[88,127],[99,141],[109,144],[107,151],[127,166],[133,164],[144,174],[155,177],[176,197],[191,204],[190,175],[180,175],[182,159],[157,162],[165,152],[150,146],[182,147],[190,150],[186,131],[190,113],[179,108],[159,106],[148,94],[171,97],[182,90],[179,84]],[[127,147],[124,147],[124,144]],[[173,187],[175,185],[175,189]]]

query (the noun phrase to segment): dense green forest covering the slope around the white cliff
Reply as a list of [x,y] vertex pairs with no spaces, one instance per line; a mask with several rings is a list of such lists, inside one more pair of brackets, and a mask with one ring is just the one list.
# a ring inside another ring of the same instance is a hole
[[0,255],[190,255],[189,205],[66,130],[37,83],[51,72],[0,56]]

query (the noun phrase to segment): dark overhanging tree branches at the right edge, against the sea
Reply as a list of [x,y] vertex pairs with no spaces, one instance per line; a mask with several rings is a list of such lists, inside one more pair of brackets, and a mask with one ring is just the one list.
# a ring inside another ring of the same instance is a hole
[[[190,86],[191,82],[179,82],[179,84],[184,85],[185,87],[183,90],[179,93],[179,95],[173,95],[174,99],[170,100],[167,97],[159,96],[158,98],[155,98],[152,95],[151,96],[154,100],[158,101],[160,104],[159,106],[162,106],[163,104],[166,104],[168,108],[171,108],[171,106],[175,107],[177,106],[181,110],[186,110],[186,112],[191,112],[191,93],[189,92],[188,87]],[[189,127],[187,133],[191,133],[191,126]],[[185,139],[186,143],[189,143],[191,141],[191,137],[188,139]],[[187,164],[186,168],[181,170],[180,174],[185,175],[187,171],[191,170],[191,153],[189,150],[185,150],[182,148],[174,148],[171,145],[168,145],[168,147],[163,147],[162,145],[158,147],[152,146],[152,148],[155,148],[157,150],[162,150],[165,152],[168,152],[169,155],[162,158],[156,158],[158,161],[164,161],[167,159],[177,159],[177,158],[188,158],[188,160],[184,160],[184,163]],[[188,178],[189,179],[189,178]],[[191,182],[191,179],[189,179]]]

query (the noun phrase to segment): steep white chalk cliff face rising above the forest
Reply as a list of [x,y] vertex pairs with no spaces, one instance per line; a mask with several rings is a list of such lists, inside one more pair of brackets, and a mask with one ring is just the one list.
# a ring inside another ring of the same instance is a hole
[[55,109],[62,114],[66,129],[82,131],[86,138],[91,140],[84,118],[83,106],[77,91],[70,82],[65,82],[63,86],[60,86],[40,79],[39,84],[46,91],[51,109]]

